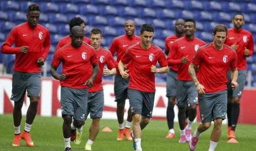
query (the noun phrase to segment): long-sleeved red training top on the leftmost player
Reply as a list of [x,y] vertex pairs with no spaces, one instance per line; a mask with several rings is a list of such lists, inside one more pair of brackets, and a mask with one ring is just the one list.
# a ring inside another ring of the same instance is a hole
[[[12,45],[15,43],[15,47]],[[20,47],[28,46],[28,53],[20,53]],[[28,22],[15,26],[2,45],[3,54],[15,54],[13,70],[25,73],[40,73],[41,66],[37,60],[46,57],[51,47],[50,33],[47,28],[36,24],[32,28]]]

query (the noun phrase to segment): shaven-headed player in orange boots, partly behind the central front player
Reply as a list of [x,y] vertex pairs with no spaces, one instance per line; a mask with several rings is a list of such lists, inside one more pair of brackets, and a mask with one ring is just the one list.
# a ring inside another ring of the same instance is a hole
[[[116,37],[112,44],[110,45],[110,51],[112,55],[117,53],[117,63],[121,60],[122,56],[126,49],[133,44],[137,44],[140,42],[140,37],[134,34],[135,32],[135,23],[132,20],[127,20],[124,24],[124,30],[126,34],[122,36]],[[129,63],[128,63],[129,64]],[[128,67],[129,65],[127,65]],[[117,102],[117,120],[119,124],[119,132],[117,136],[118,141],[123,140],[123,136],[126,136],[127,141],[132,141],[132,137],[130,137],[130,125],[132,124],[132,115],[130,114],[130,108],[128,109],[128,116],[126,121],[126,126],[124,127],[123,116],[124,116],[124,106],[126,104],[127,99],[127,91],[128,91],[128,79],[123,79],[120,75],[120,72],[117,69],[117,74],[115,75],[115,83],[114,83],[114,92],[115,92],[115,101]]]

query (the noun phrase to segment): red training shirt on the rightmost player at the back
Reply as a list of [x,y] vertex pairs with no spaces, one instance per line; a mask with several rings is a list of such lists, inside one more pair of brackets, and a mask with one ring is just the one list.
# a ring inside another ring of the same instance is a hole
[[[238,45],[236,50],[237,53],[237,69],[247,69],[246,57],[251,56],[254,50],[254,43],[252,33],[247,30],[241,29],[236,30],[236,28],[229,28],[227,32],[227,38],[225,44],[231,46],[234,43]],[[244,47],[249,49],[248,56],[244,55]]]

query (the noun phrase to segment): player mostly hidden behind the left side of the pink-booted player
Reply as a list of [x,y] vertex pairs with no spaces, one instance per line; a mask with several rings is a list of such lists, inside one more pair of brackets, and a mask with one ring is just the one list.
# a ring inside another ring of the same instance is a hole
[[[168,55],[172,43],[184,36],[184,20],[178,19],[175,22],[175,32],[176,34],[168,36],[165,39],[165,54]],[[175,113],[173,107],[175,106],[176,100],[176,82],[177,82],[177,71],[178,66],[170,66],[166,78],[166,97],[168,97],[168,106],[166,111],[167,124],[169,127],[168,134],[165,138],[175,138],[175,131],[173,129],[173,120],[175,118]]]

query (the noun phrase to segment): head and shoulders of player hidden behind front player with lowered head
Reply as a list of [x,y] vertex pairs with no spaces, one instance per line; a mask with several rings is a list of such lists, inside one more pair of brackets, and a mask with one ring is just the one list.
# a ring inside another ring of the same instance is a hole
[[[74,17],[73,19],[71,19],[68,23],[69,25],[69,31],[71,31],[71,29],[74,27],[74,26],[81,26],[84,30],[84,34],[86,32],[86,28],[85,28],[85,24],[84,24],[84,20],[81,19],[80,17]],[[90,39],[88,37],[85,37],[84,36],[84,39],[83,41],[85,43],[88,43],[90,44]],[[61,40],[59,40],[57,46],[56,46],[56,49],[55,51],[57,51],[59,48],[63,47],[63,45],[66,45],[68,43],[71,43],[71,38],[70,36],[66,36],[66,37],[63,37]]]

